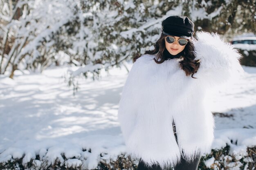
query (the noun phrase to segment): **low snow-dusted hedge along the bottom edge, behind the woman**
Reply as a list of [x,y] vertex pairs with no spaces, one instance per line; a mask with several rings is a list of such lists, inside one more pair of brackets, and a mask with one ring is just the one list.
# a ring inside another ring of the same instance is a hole
[[[93,170],[136,170],[138,160],[128,157],[126,154],[111,157],[108,159],[104,155],[99,155],[99,162]],[[6,163],[0,163],[0,169],[24,169],[28,170],[88,170],[89,162],[86,159],[73,157],[72,159],[65,158],[64,154],[60,159],[55,159],[53,162],[36,155],[35,159],[31,159],[27,163],[22,163],[24,155],[20,159],[11,159]],[[113,155],[112,155],[113,156]],[[230,154],[230,146],[225,148],[212,150],[211,154],[203,155],[200,159],[198,170],[255,170],[256,167],[256,147],[245,148],[244,152]]]

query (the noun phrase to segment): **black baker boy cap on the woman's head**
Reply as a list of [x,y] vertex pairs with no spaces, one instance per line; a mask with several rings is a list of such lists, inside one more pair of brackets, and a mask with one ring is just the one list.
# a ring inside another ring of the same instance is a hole
[[170,16],[162,22],[165,35],[191,38],[194,33],[194,23],[186,16]]

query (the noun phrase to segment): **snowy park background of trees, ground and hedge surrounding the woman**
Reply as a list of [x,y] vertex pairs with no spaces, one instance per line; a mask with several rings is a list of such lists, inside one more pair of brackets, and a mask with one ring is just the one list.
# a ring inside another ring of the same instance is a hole
[[[117,121],[132,57],[170,15],[227,42],[255,38],[255,0],[0,0],[0,169],[132,170]],[[245,75],[212,92],[201,170],[256,170],[256,43]]]

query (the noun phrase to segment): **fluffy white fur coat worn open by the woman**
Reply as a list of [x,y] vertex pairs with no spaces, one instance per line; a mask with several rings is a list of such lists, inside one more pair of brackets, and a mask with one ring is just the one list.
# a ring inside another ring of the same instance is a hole
[[[118,121],[128,154],[147,166],[159,163],[162,169],[174,166],[183,156],[211,150],[214,119],[205,106],[207,88],[243,73],[241,57],[232,45],[217,34],[197,32],[194,41],[200,68],[186,76],[180,59],[157,64],[155,55],[142,55],[133,64],[119,102]],[[177,139],[173,134],[176,124]],[[182,152],[183,151],[183,152]]]

